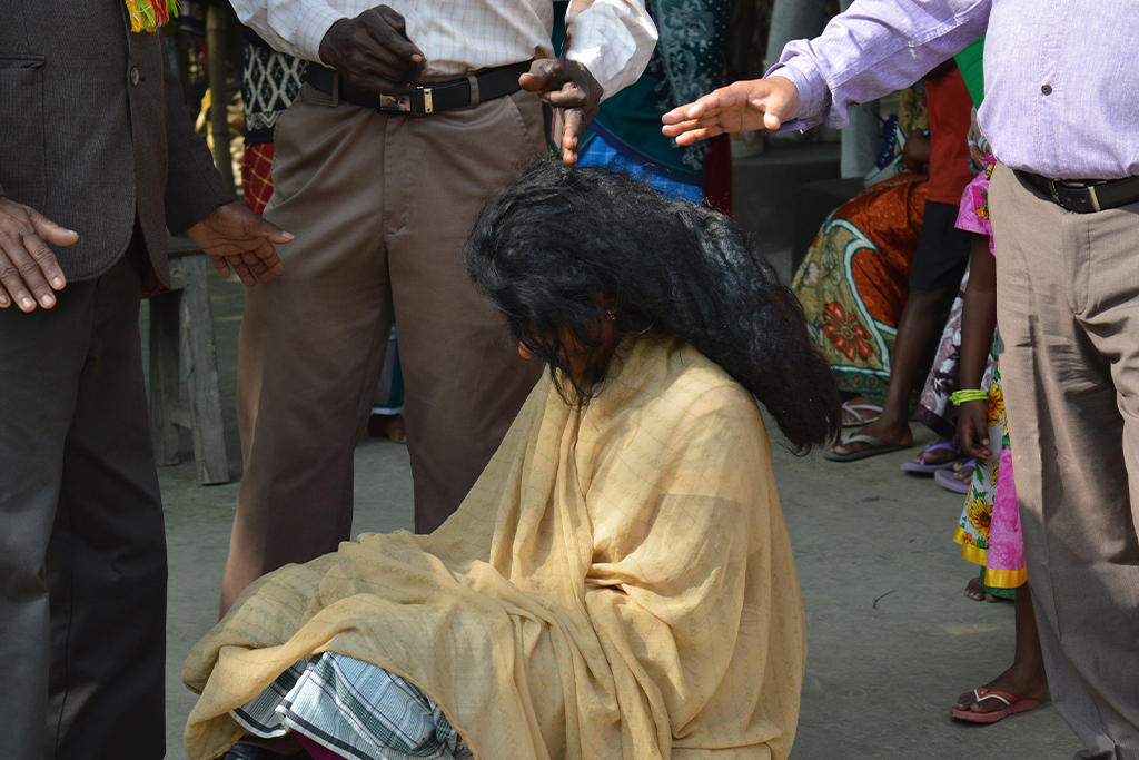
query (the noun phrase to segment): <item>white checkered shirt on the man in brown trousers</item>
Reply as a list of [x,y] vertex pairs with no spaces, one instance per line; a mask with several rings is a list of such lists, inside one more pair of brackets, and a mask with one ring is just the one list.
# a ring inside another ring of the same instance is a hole
[[[269,44],[320,62],[320,41],[341,18],[378,0],[231,0],[241,22]],[[408,38],[427,57],[427,74],[550,58],[551,0],[387,0],[407,19]],[[645,0],[572,0],[566,55],[583,64],[606,97],[637,81],[656,44]]]

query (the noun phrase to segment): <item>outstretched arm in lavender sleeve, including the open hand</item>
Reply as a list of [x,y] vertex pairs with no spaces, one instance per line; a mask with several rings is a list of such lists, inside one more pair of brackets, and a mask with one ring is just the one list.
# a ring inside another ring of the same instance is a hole
[[724,132],[842,128],[851,107],[909,87],[989,25],[992,0],[858,0],[814,40],[796,40],[767,77],[736,82],[664,115],[689,145]]

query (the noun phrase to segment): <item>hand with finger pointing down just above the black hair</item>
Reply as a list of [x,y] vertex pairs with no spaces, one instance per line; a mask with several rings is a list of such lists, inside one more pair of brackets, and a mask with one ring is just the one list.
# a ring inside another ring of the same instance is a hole
[[562,147],[563,161],[577,163],[581,138],[605,95],[601,84],[588,68],[568,58],[535,60],[530,72],[518,77],[518,84],[560,112],[564,128],[554,139]]

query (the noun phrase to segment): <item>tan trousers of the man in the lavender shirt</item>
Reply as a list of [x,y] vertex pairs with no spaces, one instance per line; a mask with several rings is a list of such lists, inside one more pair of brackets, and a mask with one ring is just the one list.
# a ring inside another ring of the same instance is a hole
[[1082,758],[1139,758],[1139,204],[1074,214],[999,166],[998,320],[1029,583]]

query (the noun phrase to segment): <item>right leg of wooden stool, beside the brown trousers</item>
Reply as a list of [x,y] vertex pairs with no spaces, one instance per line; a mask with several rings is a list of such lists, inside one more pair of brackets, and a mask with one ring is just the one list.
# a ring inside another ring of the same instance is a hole
[[229,460],[221,420],[213,308],[210,305],[211,267],[206,256],[186,256],[180,263],[186,276],[181,343],[192,422],[194,460],[200,483],[228,483]]

